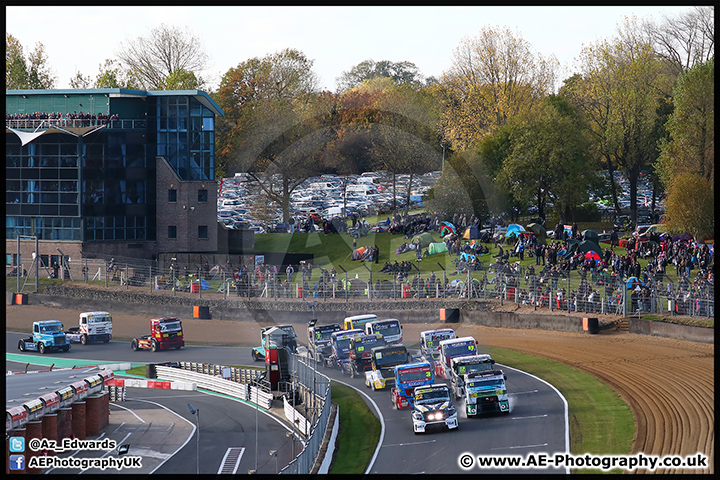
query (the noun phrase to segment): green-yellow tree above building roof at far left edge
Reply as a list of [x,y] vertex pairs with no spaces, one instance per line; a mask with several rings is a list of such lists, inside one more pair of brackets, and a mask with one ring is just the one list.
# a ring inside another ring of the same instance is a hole
[[48,63],[45,46],[38,42],[27,56],[20,41],[5,33],[5,88],[44,90],[54,88],[57,78]]

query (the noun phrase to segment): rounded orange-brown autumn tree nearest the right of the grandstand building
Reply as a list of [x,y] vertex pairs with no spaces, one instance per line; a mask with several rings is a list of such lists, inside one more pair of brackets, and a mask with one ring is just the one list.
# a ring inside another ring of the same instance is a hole
[[218,171],[248,172],[284,221],[290,194],[320,168],[314,160],[327,142],[329,112],[315,102],[312,64],[294,49],[252,58],[226,72],[214,94],[225,112],[216,125]]

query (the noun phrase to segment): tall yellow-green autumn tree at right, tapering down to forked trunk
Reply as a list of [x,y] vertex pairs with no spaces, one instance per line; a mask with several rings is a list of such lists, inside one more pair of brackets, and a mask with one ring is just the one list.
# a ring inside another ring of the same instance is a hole
[[584,47],[579,75],[561,89],[585,113],[618,214],[614,172],[628,179],[633,221],[638,180],[658,156],[658,116],[675,78],[638,31],[637,23],[628,19],[616,37]]

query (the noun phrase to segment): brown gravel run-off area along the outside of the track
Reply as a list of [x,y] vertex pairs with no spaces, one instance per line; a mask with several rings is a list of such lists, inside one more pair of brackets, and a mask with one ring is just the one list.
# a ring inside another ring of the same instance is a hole
[[[33,305],[7,306],[6,330],[30,332],[34,320],[46,319],[74,325],[78,313]],[[182,320],[185,336],[191,343],[253,346],[260,329],[251,319]],[[114,337],[123,340],[144,334],[147,321],[148,317],[113,312]],[[445,325],[404,324],[403,336],[416,339],[420,331],[440,326]],[[654,473],[714,473],[714,345],[615,330],[587,335],[465,323],[453,328],[458,336],[472,335],[482,345],[556,360],[608,384],[628,403],[635,417],[631,453],[708,456],[707,469],[662,469]],[[296,330],[301,343],[307,344],[304,328],[296,326]]]

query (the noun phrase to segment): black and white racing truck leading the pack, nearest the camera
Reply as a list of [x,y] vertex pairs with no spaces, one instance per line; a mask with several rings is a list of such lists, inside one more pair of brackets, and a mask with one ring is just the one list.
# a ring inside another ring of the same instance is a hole
[[450,400],[450,389],[444,383],[425,385],[414,390],[413,432],[424,433],[429,428],[458,428],[457,409]]

